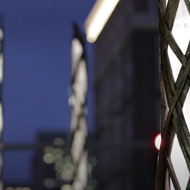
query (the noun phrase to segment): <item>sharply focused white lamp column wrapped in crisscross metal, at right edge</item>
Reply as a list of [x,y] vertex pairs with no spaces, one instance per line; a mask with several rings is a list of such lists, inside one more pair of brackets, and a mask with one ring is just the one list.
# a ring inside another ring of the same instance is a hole
[[156,190],[190,188],[189,13],[189,0],[159,0],[162,143]]

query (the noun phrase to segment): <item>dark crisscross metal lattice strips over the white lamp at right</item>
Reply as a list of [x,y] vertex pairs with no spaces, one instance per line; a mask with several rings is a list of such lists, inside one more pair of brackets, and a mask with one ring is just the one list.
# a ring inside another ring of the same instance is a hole
[[[180,0],[169,0],[165,8],[165,0],[159,1],[161,95],[163,107],[168,108],[168,112],[164,111],[165,115],[162,114],[162,144],[157,164],[156,190],[167,190],[169,188],[166,185],[168,183],[167,180],[169,180],[167,179],[167,173],[169,173],[174,188],[181,190],[170,159],[175,134],[177,135],[187,167],[190,170],[190,134],[182,110],[190,85],[190,43],[184,55],[171,33],[179,2]],[[189,1],[184,0],[184,2],[190,13]],[[182,66],[176,82],[172,74],[172,63],[170,63],[168,57],[168,46],[171,47]],[[190,180],[186,189],[189,189],[189,187]]]

